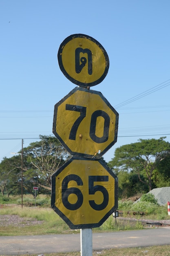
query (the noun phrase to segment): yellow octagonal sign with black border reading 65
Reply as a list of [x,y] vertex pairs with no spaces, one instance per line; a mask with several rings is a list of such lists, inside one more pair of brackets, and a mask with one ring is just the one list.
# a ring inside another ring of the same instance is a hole
[[51,207],[71,229],[99,227],[118,207],[118,179],[102,159],[72,157],[52,175]]

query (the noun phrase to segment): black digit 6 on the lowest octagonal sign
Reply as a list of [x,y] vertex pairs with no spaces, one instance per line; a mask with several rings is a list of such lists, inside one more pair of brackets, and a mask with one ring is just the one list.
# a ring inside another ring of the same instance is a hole
[[[77,188],[68,188],[68,182],[74,180],[77,182],[77,185],[83,185],[82,179],[75,174],[70,174],[64,178],[62,181],[62,203],[68,210],[77,210],[82,206],[83,203],[83,195],[82,192]],[[68,202],[68,196],[71,194],[77,195],[77,202],[75,204],[71,204]]]

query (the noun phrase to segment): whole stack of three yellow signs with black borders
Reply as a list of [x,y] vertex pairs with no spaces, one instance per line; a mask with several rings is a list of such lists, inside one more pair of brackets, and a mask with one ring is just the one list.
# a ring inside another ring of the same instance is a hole
[[60,45],[63,74],[79,85],[55,104],[53,134],[73,155],[52,175],[51,207],[72,229],[99,227],[118,206],[117,176],[100,159],[117,141],[119,114],[90,90],[108,73],[104,47],[84,34]]

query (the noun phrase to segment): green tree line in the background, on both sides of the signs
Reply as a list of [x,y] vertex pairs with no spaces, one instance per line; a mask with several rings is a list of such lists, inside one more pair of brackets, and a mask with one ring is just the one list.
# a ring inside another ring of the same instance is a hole
[[[105,162],[118,177],[119,199],[170,186],[170,143],[165,139],[139,139],[123,145]],[[37,195],[50,195],[51,175],[70,157],[55,137],[40,135],[40,141],[23,148],[23,152],[2,159],[0,194],[21,195],[23,179],[23,194],[34,196],[33,187],[37,186]]]

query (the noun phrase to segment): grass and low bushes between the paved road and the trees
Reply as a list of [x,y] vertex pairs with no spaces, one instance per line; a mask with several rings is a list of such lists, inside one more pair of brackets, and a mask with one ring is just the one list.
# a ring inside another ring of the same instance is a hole
[[[7,198],[6,202],[4,198]],[[121,218],[114,218],[112,215],[98,228],[93,228],[93,232],[111,232],[120,230],[143,229],[139,219],[151,220],[170,220],[167,213],[167,206],[159,206],[154,201],[154,196],[150,194],[141,197],[141,201],[133,203],[132,200],[119,201],[119,211],[122,217],[136,218],[135,223],[129,220],[122,221]],[[13,222],[9,225],[3,226],[0,223],[0,236],[19,236],[19,235],[42,235],[42,234],[70,234],[79,233],[79,229],[70,229],[68,225],[62,220],[50,207],[50,196],[39,195],[35,201],[30,195],[25,195],[23,198],[24,206],[20,205],[20,197],[0,197],[0,216],[20,216],[22,218],[22,225],[15,224],[15,217]],[[29,205],[29,206],[28,206]],[[135,212],[135,215],[133,213]],[[144,213],[141,216],[141,212]],[[129,215],[131,213],[131,215]],[[119,214],[120,216],[120,214]],[[8,218],[7,218],[8,221]],[[30,221],[30,225],[25,225],[25,222]],[[41,221],[41,223],[37,222]]]

